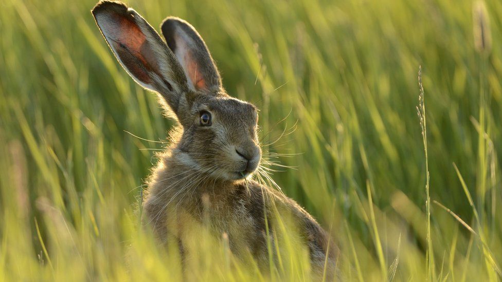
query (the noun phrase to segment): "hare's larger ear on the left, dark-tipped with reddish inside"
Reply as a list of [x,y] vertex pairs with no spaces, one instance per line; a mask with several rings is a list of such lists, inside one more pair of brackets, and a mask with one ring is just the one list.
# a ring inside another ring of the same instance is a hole
[[174,112],[188,91],[187,78],[175,55],[136,11],[101,1],[92,10],[96,24],[120,64],[141,86],[163,96]]

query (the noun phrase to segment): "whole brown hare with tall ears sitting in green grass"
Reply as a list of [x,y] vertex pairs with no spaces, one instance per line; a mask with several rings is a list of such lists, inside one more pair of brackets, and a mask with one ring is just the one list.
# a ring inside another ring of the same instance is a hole
[[215,238],[228,240],[232,254],[251,254],[267,266],[267,240],[277,238],[277,214],[289,214],[296,226],[288,231],[304,243],[312,272],[333,273],[337,247],[327,232],[294,200],[251,179],[262,154],[257,108],[223,89],[199,33],[184,20],[167,17],[161,25],[164,42],[136,11],[118,2],[101,1],[92,13],[123,68],[158,93],[178,122],[149,178],[143,205],[144,221],[158,240],[174,239],[183,257],[189,238],[200,236],[187,225],[206,222]]

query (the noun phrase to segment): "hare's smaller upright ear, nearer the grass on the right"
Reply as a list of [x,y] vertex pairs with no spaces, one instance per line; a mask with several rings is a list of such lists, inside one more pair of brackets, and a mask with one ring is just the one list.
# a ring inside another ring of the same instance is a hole
[[201,35],[187,22],[167,17],[161,25],[167,45],[183,67],[192,89],[216,93],[221,78]]

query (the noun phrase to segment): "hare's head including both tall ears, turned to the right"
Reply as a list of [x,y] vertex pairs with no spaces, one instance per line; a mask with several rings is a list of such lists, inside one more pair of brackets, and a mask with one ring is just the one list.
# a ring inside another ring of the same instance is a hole
[[93,14],[123,68],[138,84],[157,92],[182,125],[174,148],[178,161],[226,180],[243,179],[256,170],[261,159],[257,110],[226,94],[206,44],[189,23],[166,18],[164,42],[124,4],[102,1]]

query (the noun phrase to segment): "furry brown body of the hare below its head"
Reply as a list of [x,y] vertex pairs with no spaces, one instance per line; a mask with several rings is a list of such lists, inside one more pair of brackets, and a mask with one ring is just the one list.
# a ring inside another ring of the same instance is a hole
[[[169,151],[176,151],[175,144]],[[230,182],[205,174],[193,176],[190,168],[169,151],[162,154],[150,178],[144,203],[145,219],[161,241],[196,236],[187,234],[190,226],[185,228],[185,223],[192,224],[194,220],[210,226],[216,236],[227,234],[232,252],[250,252],[260,265],[266,266],[264,215],[267,215],[268,230],[273,230],[275,211],[279,211],[293,217],[297,229],[293,228],[292,232],[299,232],[297,235],[307,243],[314,271],[322,272],[328,248],[328,268],[334,267],[336,247],[332,243],[328,247],[326,232],[295,201],[254,180]],[[174,185],[169,187],[165,179]],[[268,239],[273,240],[273,236]]]

